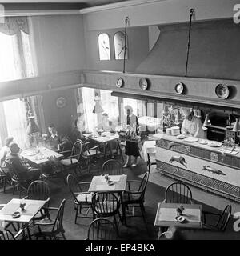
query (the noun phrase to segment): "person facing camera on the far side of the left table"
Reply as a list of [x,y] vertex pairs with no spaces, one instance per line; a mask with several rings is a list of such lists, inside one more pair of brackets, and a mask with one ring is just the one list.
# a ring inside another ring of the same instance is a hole
[[48,126],[50,135],[46,138],[46,142],[50,144],[50,149],[54,151],[70,150],[71,143],[65,135],[59,134],[54,124]]

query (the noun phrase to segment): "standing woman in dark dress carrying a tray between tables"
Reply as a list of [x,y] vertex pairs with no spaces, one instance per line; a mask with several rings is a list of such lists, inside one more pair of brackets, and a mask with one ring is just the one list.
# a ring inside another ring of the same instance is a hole
[[[138,118],[133,114],[133,108],[131,106],[125,106],[126,110],[126,125],[130,127],[131,131],[134,131],[136,134],[138,133]],[[123,166],[124,168],[130,166],[131,164],[131,156],[134,156],[134,163],[131,165],[135,167],[138,165],[138,142],[127,142],[125,147],[126,153],[126,164]]]

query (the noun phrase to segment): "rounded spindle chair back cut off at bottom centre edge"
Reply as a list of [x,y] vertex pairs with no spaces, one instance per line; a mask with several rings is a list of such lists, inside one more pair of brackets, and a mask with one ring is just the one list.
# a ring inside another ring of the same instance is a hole
[[106,218],[96,218],[90,223],[87,240],[117,240],[116,226]]

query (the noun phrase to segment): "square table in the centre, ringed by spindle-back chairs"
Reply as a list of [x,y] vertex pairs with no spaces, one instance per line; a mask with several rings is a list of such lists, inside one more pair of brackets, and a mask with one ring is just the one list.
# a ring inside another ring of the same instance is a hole
[[[122,193],[126,190],[126,180],[127,175],[109,175],[109,180],[111,181],[111,185],[106,181],[104,175],[94,176],[90,183],[89,192],[97,193],[97,192],[110,192],[117,193],[120,197],[120,202],[122,205]],[[126,214],[124,207],[122,206],[122,220],[125,220]]]

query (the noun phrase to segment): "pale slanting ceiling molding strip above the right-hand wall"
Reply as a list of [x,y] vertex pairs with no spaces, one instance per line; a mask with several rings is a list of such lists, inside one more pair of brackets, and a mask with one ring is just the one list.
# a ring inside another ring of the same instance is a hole
[[139,5],[149,4],[151,2],[165,2],[165,1],[168,1],[168,0],[130,0],[130,1],[124,1],[124,2],[115,2],[115,3],[110,3],[108,5],[83,8],[80,10],[80,14],[89,14],[89,13],[94,13],[101,10],[113,10],[113,9],[118,9],[122,7],[139,6]]

